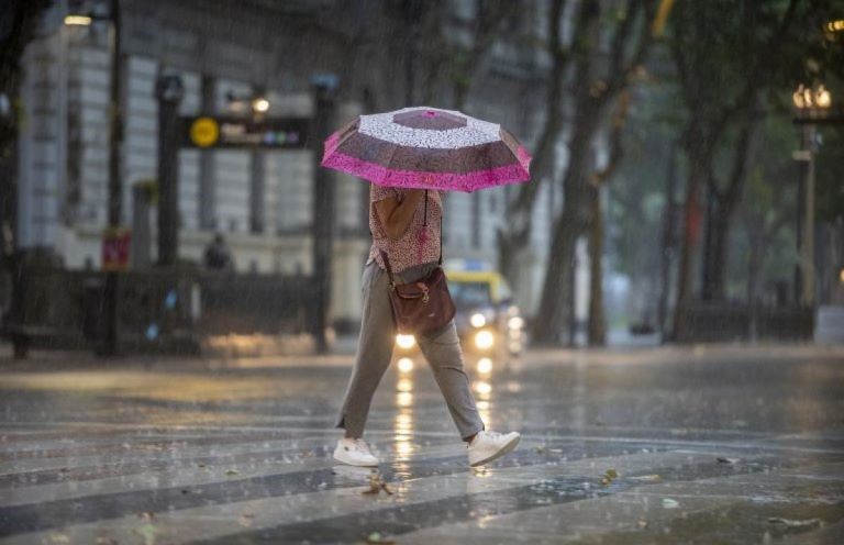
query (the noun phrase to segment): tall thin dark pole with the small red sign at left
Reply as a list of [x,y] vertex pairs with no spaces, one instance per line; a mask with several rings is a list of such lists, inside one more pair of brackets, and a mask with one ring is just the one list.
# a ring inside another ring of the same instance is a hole
[[[109,231],[113,234],[120,226],[123,204],[123,187],[120,179],[120,155],[123,147],[123,115],[120,105],[122,59],[120,40],[120,0],[111,0],[111,97],[109,110],[111,131],[109,140]],[[104,307],[106,307],[106,338],[102,355],[113,356],[118,353],[120,324],[118,309],[120,307],[120,277],[116,271],[106,274]]]

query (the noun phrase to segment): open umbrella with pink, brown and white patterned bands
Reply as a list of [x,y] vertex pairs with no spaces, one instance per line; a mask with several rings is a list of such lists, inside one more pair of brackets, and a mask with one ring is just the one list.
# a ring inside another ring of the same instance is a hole
[[322,166],[379,186],[467,192],[528,181],[530,163],[500,125],[429,107],[359,115],[322,156]]

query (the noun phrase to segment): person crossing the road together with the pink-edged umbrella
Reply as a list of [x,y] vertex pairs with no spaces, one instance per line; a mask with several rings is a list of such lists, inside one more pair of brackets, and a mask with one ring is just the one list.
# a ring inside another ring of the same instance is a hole
[[[437,269],[442,264],[442,191],[528,181],[530,160],[524,147],[499,125],[426,107],[360,115],[325,141],[323,166],[370,181],[373,234],[363,274],[360,337],[336,422],[336,427],[345,430],[334,451],[336,460],[365,467],[379,464],[363,434],[373,396],[392,358],[397,326],[402,326],[398,322],[407,322],[399,303],[414,290],[427,302],[429,296],[437,297],[440,285],[446,301],[427,309],[445,308],[445,315],[438,316],[445,322],[417,336],[467,443],[469,465],[488,464],[519,444],[519,433],[488,431],[480,419],[449,318],[453,304]],[[436,312],[426,318],[412,311],[417,314],[412,318],[422,323],[436,320]]]

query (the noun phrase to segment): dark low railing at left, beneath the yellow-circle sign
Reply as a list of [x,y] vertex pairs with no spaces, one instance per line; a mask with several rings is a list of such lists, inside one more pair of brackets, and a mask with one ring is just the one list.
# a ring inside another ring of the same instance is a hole
[[[21,323],[7,334],[34,346],[96,348],[104,336],[104,274],[27,269]],[[307,331],[310,277],[127,271],[119,279],[121,347],[129,352],[198,352],[207,337],[280,335]]]

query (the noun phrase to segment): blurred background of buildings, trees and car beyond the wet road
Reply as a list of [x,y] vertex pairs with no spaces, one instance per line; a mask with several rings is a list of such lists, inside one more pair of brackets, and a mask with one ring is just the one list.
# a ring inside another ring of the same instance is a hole
[[843,77],[833,0],[9,0],[3,336],[354,343],[368,185],[322,141],[426,104],[534,155],[445,200],[475,348],[844,342]]

